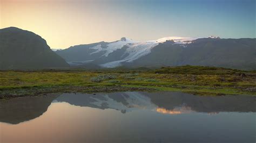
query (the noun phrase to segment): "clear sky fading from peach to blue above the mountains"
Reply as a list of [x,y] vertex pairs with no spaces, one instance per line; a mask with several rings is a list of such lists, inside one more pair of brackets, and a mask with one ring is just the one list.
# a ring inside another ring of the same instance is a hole
[[255,0],[0,0],[0,28],[18,27],[51,48],[122,37],[255,38]]

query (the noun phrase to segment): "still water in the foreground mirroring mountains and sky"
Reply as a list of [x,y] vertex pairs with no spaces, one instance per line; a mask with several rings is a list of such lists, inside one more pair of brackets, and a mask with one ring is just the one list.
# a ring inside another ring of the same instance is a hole
[[255,99],[116,92],[0,100],[0,142],[255,142]]

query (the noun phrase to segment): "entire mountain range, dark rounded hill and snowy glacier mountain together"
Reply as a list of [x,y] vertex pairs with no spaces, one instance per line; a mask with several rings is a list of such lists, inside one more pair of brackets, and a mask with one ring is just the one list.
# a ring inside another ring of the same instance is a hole
[[41,36],[8,27],[0,30],[0,44],[0,69],[183,65],[256,69],[256,38],[164,37],[140,42],[122,37],[113,42],[100,41],[56,51]]

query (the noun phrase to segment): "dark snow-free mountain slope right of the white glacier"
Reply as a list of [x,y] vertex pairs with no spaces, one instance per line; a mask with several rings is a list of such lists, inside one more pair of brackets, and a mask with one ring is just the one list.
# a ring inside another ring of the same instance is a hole
[[196,39],[190,44],[160,43],[126,66],[214,66],[256,69],[256,39]]

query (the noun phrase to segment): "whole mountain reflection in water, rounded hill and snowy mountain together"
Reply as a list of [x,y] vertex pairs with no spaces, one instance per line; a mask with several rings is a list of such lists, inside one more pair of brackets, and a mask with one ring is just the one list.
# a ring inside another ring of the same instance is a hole
[[151,110],[163,114],[205,112],[255,112],[254,96],[195,96],[182,92],[114,92],[97,94],[62,94],[0,100],[0,121],[18,124],[41,116],[50,104],[97,109],[114,109],[121,113]]

